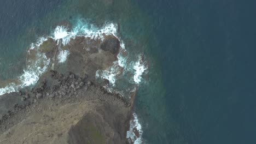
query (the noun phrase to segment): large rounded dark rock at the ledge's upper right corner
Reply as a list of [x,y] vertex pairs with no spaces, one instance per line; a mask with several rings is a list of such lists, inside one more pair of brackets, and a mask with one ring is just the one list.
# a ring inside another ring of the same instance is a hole
[[109,51],[113,54],[117,54],[120,48],[120,41],[114,35],[107,35],[101,43],[101,49],[104,51]]

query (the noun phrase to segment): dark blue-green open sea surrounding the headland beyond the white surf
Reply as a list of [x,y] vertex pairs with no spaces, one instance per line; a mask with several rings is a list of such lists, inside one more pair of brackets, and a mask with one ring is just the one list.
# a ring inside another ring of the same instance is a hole
[[147,61],[135,107],[142,143],[256,143],[255,7],[250,0],[0,0],[0,92],[26,72],[31,44],[61,22],[115,23],[129,59],[139,53]]

